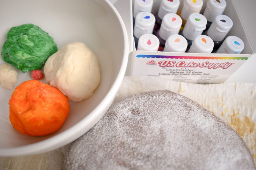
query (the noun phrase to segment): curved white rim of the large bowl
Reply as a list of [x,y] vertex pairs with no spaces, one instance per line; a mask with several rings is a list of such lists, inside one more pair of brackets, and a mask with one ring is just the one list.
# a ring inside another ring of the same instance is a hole
[[[102,114],[102,112],[109,109],[111,103],[113,102],[119,90],[119,87],[125,75],[125,71],[128,63],[128,56],[129,56],[129,42],[128,42],[127,31],[119,12],[116,10],[114,5],[110,1],[108,0],[104,0],[104,1],[112,8],[114,13],[118,17],[118,20],[120,21],[120,24],[122,27],[122,32],[124,37],[124,47],[123,47],[124,50],[123,50],[121,67],[119,69],[119,72],[116,76],[116,79],[113,85],[111,86],[106,96],[101,100],[98,106],[94,108],[86,117],[84,117],[81,121],[71,126],[67,130],[57,135],[54,135],[52,137],[49,137],[47,139],[44,139],[42,141],[35,142],[29,145],[12,147],[12,148],[0,148],[0,156],[24,156],[24,155],[40,154],[40,153],[45,153],[48,151],[58,149],[62,146],[65,146],[70,142],[76,140],[80,136],[82,136],[89,129],[91,129],[104,115]],[[109,102],[110,99],[111,99],[111,102]],[[90,125],[89,129],[84,130],[85,127],[88,126],[88,123],[93,122],[93,120],[95,120],[96,118],[98,118],[98,121],[96,121],[96,123],[89,124]],[[74,132],[76,133],[74,134]]]

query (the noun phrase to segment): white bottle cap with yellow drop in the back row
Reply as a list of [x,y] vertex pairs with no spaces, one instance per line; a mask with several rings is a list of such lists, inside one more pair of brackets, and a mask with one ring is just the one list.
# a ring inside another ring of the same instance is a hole
[[187,21],[190,14],[199,13],[202,9],[202,0],[184,0],[180,16]]

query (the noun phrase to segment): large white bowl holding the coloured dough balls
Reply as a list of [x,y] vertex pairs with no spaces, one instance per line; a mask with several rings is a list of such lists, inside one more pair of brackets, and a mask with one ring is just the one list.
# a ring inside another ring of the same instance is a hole
[[[13,90],[0,87],[0,156],[47,152],[86,133],[110,107],[127,66],[127,33],[114,6],[108,0],[8,0],[0,2],[0,22],[1,50],[11,27],[33,23],[54,38],[58,49],[71,42],[86,44],[98,56],[101,69],[101,82],[93,96],[81,102],[70,101],[63,126],[42,137],[26,136],[12,127],[8,100]],[[30,72],[17,72],[15,87],[31,79]]]

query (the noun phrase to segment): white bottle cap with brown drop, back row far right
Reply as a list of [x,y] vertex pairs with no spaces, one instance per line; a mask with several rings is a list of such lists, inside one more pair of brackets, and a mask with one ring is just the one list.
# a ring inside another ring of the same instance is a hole
[[213,22],[214,19],[223,13],[227,6],[225,0],[208,0],[204,11],[204,16],[209,22]]

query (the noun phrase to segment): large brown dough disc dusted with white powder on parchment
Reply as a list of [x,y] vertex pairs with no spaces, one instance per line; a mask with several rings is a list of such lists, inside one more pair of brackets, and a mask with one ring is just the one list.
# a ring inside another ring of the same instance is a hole
[[74,141],[62,169],[255,169],[226,123],[169,90],[114,104]]

